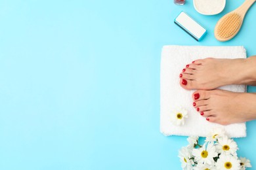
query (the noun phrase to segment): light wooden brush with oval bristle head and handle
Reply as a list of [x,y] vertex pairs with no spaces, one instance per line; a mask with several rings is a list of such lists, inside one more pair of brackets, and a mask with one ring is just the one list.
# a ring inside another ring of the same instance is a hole
[[228,41],[232,39],[240,30],[247,10],[253,3],[255,3],[255,1],[256,0],[245,0],[238,9],[224,15],[215,26],[215,38],[219,41]]

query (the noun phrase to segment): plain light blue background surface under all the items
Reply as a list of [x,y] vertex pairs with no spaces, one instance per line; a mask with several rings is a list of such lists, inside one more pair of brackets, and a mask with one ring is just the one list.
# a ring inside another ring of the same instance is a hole
[[[0,169],[181,169],[186,137],[159,129],[161,47],[244,45],[256,54],[255,5],[234,39],[213,36],[242,2],[203,16],[191,0],[0,1]],[[173,23],[181,10],[207,28],[202,41]],[[247,123],[236,139],[254,167],[255,128]]]

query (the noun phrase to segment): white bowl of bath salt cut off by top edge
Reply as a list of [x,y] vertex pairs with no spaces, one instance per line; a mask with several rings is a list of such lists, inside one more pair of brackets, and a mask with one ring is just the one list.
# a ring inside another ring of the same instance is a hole
[[203,15],[221,13],[226,5],[226,0],[194,0],[194,8]]

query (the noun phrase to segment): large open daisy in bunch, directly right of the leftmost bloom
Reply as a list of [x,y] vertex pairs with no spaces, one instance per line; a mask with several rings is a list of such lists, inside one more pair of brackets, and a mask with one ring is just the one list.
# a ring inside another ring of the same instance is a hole
[[213,165],[213,158],[218,156],[214,143],[204,143],[202,148],[194,148],[192,154],[195,156],[196,162],[209,165]]

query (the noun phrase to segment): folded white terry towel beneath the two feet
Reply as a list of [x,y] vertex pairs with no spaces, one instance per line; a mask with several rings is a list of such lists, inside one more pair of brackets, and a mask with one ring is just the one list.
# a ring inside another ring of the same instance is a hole
[[[186,64],[203,58],[246,58],[246,52],[243,46],[163,46],[161,53],[161,133],[205,137],[213,127],[223,127],[229,137],[245,137],[245,123],[221,126],[207,122],[192,106],[194,90],[181,88],[179,74],[182,69]],[[246,86],[228,85],[220,89],[245,92]],[[184,126],[175,126],[170,122],[171,110],[179,107],[188,110],[188,118]]]

